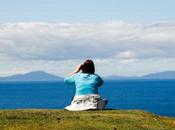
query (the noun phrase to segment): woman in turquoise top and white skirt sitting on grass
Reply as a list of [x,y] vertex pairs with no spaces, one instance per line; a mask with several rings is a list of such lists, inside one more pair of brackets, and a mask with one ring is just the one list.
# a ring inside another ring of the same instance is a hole
[[98,87],[103,80],[94,74],[95,67],[92,60],[86,60],[82,65],[64,79],[67,84],[75,84],[76,94],[70,106],[65,109],[70,111],[81,111],[90,109],[104,109],[107,100],[103,100],[98,94]]

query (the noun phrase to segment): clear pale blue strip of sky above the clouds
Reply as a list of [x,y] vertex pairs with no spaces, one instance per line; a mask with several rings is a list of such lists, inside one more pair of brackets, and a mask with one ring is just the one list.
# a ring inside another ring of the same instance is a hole
[[174,21],[174,0],[0,0],[0,22]]

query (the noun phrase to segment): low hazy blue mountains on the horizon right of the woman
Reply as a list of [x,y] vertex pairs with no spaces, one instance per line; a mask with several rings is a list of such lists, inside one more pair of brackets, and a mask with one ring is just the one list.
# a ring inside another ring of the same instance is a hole
[[143,76],[118,76],[118,75],[112,75],[105,77],[107,80],[127,80],[127,79],[175,79],[175,71],[164,71],[164,72],[158,72],[158,73],[150,73]]

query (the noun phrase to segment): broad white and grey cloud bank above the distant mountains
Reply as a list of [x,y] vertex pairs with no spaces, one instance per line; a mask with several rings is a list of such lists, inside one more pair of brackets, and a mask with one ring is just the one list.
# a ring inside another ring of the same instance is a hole
[[86,58],[102,75],[175,69],[175,22],[0,24],[1,75],[45,70],[65,75]]

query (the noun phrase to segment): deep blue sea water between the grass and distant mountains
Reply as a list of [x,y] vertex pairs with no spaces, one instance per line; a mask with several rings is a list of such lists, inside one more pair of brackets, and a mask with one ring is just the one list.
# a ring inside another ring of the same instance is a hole
[[[141,109],[175,117],[175,81],[106,81],[99,89],[107,108]],[[63,109],[75,87],[63,82],[0,83],[0,109]]]

